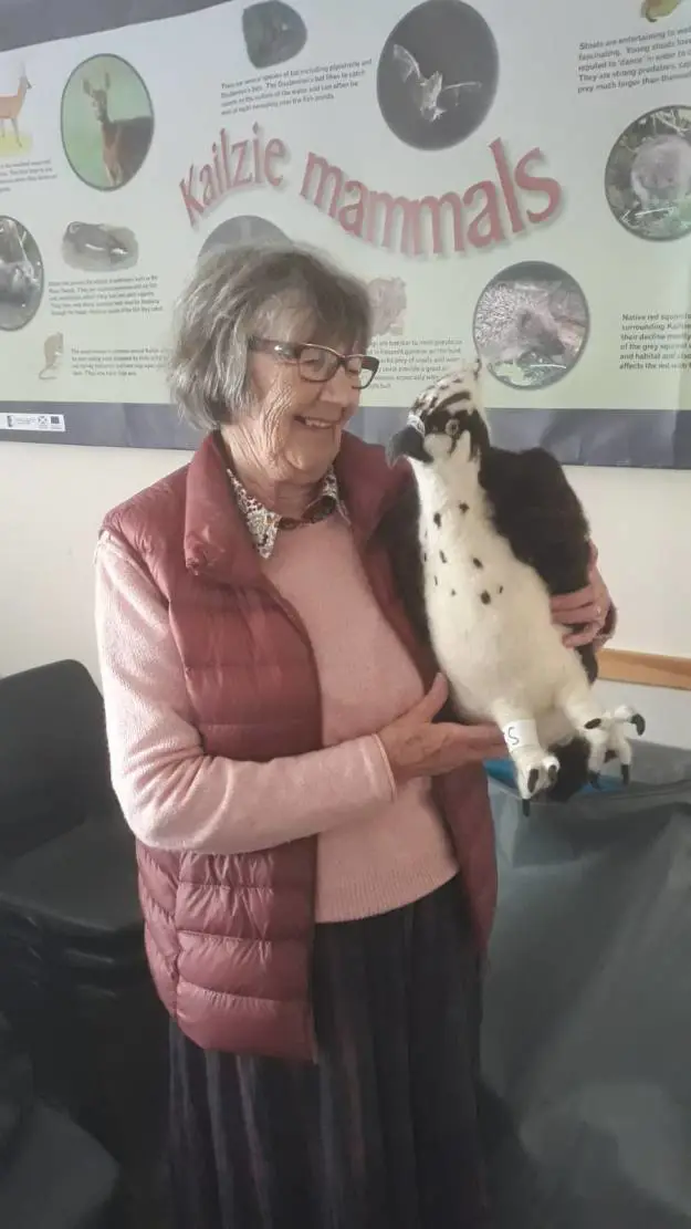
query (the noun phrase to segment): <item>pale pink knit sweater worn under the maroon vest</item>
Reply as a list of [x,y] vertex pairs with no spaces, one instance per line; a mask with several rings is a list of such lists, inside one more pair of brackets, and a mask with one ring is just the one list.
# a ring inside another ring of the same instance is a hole
[[409,905],[457,874],[430,782],[396,790],[376,736],[422,696],[340,515],[281,532],[266,573],[319,671],[324,750],[268,764],[207,756],[166,605],[112,538],[97,548],[97,633],[113,784],[146,844],[242,853],[318,834],[317,918]]

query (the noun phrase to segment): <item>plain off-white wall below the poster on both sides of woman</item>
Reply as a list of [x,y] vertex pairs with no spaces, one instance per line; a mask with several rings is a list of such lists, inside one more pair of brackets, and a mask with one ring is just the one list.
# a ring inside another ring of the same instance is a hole
[[[92,554],[101,517],[185,460],[0,444],[0,675],[66,656],[97,673]],[[616,645],[691,656],[691,476],[577,468],[569,478],[620,606]],[[635,699],[650,737],[691,746],[691,693],[641,688]]]

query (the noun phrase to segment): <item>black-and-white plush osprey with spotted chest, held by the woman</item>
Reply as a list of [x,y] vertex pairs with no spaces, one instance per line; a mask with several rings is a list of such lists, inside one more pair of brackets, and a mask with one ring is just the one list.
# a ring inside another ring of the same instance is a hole
[[[588,584],[589,530],[558,462],[542,449],[490,444],[480,361],[415,402],[389,445],[415,484],[388,521],[398,581],[419,634],[449,683],[453,717],[493,721],[515,766],[524,810],[566,800],[606,760],[630,777],[628,707],[605,712],[590,645],[568,649],[550,597]],[[452,714],[446,714],[446,717]]]

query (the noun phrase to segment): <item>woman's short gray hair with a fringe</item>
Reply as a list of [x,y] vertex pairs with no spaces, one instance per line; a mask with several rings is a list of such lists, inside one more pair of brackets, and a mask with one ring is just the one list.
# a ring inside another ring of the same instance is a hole
[[369,333],[365,286],[323,256],[295,247],[216,252],[178,302],[171,393],[191,423],[215,430],[250,403],[253,337],[361,351]]

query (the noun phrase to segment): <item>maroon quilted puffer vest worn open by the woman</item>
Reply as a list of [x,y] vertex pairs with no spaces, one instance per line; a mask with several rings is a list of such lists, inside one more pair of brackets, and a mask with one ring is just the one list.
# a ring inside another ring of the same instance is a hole
[[[421,675],[415,643],[377,530],[409,481],[380,449],[344,438],[336,463],[372,590]],[[164,596],[189,697],[209,755],[268,761],[320,747],[320,696],[309,640],[265,579],[215,436],[191,462],[108,514],[104,528]],[[480,945],[496,897],[485,777],[463,769],[437,783]],[[146,949],[158,993],[199,1046],[313,1059],[309,981],[314,838],[264,853],[210,857],[137,847]]]

